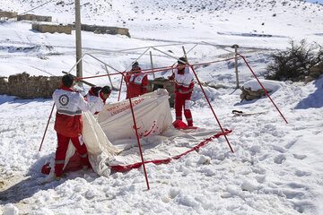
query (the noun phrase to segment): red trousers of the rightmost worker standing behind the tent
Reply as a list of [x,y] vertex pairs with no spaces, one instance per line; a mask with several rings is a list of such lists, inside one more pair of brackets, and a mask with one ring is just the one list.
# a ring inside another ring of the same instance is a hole
[[182,120],[182,109],[184,108],[184,116],[188,121],[188,126],[193,126],[193,117],[190,111],[190,99],[192,93],[180,94],[176,93],[175,98],[175,115],[176,119]]

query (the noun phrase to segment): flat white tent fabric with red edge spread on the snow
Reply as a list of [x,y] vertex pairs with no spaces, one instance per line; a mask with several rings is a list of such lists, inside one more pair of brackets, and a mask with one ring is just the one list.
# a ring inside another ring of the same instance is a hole
[[[217,138],[218,136],[214,134],[218,133],[221,131],[198,128],[188,132],[188,130],[177,130],[170,127],[161,135],[140,139],[144,162],[155,164],[169,162],[170,159],[179,158],[190,150],[198,150],[206,142]],[[121,152],[107,159],[109,166],[116,171],[140,167],[142,159],[137,142],[135,140],[126,142],[125,140],[122,143],[117,145]]]

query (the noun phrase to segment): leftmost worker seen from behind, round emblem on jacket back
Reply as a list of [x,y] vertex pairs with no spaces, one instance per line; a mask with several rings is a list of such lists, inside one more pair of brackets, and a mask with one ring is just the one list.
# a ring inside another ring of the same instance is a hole
[[81,157],[83,169],[87,169],[90,165],[87,149],[82,140],[82,111],[87,111],[90,105],[79,92],[71,88],[73,82],[73,76],[65,74],[62,78],[62,86],[53,93],[53,99],[57,107],[54,126],[57,131],[58,142],[55,156],[55,175],[57,181],[63,175],[66,150],[70,140]]

